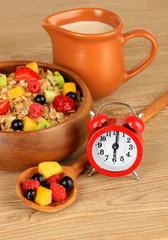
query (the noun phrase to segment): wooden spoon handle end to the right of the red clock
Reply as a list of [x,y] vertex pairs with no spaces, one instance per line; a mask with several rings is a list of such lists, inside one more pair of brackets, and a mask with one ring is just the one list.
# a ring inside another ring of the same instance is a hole
[[151,117],[153,117],[157,112],[161,111],[164,107],[168,105],[168,92],[164,93],[161,97],[156,99],[153,103],[143,109],[144,116],[142,117],[142,121],[146,122]]

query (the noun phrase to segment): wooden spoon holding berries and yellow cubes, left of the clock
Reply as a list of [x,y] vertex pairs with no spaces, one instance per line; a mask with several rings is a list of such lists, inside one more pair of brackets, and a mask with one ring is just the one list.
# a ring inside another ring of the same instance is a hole
[[17,193],[23,202],[25,202],[29,207],[32,207],[38,211],[42,211],[42,212],[60,211],[68,207],[70,204],[72,204],[75,201],[76,194],[77,194],[76,177],[88,167],[89,167],[89,162],[86,154],[84,154],[82,157],[80,157],[78,160],[72,163],[72,165],[63,166],[63,172],[60,174],[61,178],[64,176],[71,177],[74,181],[74,187],[70,192],[67,192],[67,197],[62,202],[53,202],[47,206],[40,206],[34,201],[30,201],[26,199],[26,197],[24,196],[24,192],[22,190],[22,183],[27,179],[31,179],[31,177],[38,172],[38,167],[28,168],[27,170],[25,170],[20,174],[16,184]]

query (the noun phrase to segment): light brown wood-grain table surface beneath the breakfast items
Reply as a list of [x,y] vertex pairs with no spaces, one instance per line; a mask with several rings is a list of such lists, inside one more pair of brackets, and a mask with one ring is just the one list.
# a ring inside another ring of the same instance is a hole
[[[71,8],[100,7],[118,13],[123,31],[146,28],[157,38],[155,60],[143,72],[122,85],[111,96],[95,101],[121,101],[141,110],[168,90],[168,1],[166,0],[1,0],[0,61],[27,59],[52,63],[48,34],[41,27],[48,15]],[[149,51],[150,43],[138,38],[125,45],[129,68]],[[145,124],[144,156],[137,169],[141,180],[130,174],[110,178],[86,172],[77,179],[76,202],[57,213],[37,212],[17,196],[20,172],[0,171],[0,239],[168,239],[168,108]],[[123,117],[126,108],[107,107],[110,117]],[[12,144],[12,143],[11,143]],[[61,161],[68,165],[86,149]],[[11,159],[12,161],[12,159]]]

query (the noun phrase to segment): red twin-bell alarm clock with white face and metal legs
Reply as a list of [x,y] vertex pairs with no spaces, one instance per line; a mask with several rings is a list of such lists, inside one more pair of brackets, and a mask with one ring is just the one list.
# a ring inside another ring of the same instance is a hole
[[[108,118],[99,113],[100,109],[110,104],[129,107],[132,114],[124,118]],[[91,131],[87,143],[87,157],[96,171],[110,177],[120,177],[133,172],[140,179],[135,169],[142,160],[143,138],[141,132],[144,123],[134,109],[125,103],[110,102],[102,104],[97,113],[90,111],[88,129]]]

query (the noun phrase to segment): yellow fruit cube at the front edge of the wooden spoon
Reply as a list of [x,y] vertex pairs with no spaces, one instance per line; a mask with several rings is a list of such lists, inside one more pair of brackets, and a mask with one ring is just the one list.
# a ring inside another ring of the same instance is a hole
[[40,206],[52,203],[52,191],[42,186],[38,187],[34,201]]

